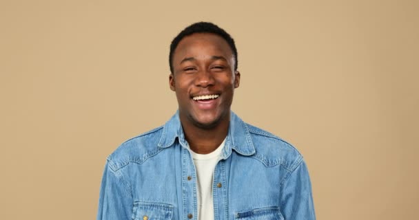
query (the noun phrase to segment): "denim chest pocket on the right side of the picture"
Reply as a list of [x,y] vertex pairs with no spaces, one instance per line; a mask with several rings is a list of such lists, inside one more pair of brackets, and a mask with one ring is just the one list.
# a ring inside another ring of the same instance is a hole
[[278,207],[256,208],[245,212],[236,212],[234,219],[240,220],[284,220]]

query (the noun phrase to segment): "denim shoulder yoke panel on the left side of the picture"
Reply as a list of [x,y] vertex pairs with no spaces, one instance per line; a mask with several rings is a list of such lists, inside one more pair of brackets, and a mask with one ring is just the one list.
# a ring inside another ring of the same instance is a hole
[[147,158],[159,153],[162,148],[157,147],[157,144],[161,138],[162,130],[163,126],[159,126],[123,142],[108,156],[110,168],[118,170],[130,162],[142,164]]

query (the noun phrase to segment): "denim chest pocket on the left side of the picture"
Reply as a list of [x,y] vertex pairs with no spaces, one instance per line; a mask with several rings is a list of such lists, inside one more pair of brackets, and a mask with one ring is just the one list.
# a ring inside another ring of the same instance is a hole
[[165,203],[134,202],[133,220],[170,220],[173,217],[173,206]]

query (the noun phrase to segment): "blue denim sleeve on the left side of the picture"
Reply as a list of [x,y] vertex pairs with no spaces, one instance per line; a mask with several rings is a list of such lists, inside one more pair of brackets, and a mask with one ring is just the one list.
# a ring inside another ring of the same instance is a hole
[[132,191],[123,179],[121,169],[112,170],[110,161],[103,172],[97,220],[132,218]]

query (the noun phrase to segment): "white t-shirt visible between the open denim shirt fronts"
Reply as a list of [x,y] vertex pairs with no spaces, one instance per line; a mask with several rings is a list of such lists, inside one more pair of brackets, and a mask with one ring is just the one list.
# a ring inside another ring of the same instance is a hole
[[196,184],[198,199],[198,219],[214,220],[214,201],[212,199],[212,179],[214,177],[214,169],[221,157],[224,143],[221,143],[215,151],[208,154],[198,154],[194,151],[192,158],[196,168]]

